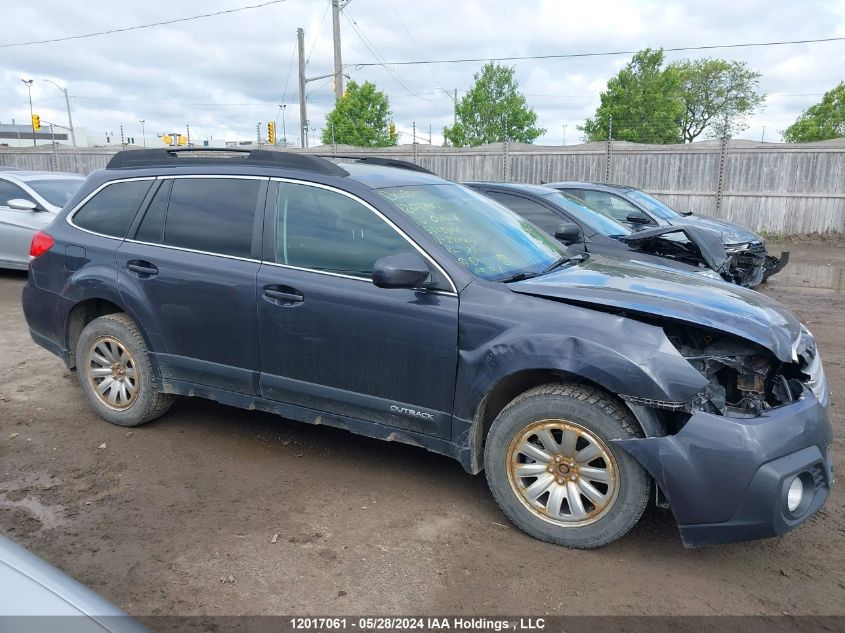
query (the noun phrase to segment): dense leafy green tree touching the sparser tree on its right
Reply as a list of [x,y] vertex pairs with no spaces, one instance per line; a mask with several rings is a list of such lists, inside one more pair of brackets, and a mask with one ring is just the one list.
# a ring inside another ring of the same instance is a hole
[[[678,74],[663,68],[663,49],[634,55],[607,82],[596,114],[578,129],[588,141],[613,138],[634,143],[678,143],[684,104]],[[612,131],[611,131],[612,129]]]

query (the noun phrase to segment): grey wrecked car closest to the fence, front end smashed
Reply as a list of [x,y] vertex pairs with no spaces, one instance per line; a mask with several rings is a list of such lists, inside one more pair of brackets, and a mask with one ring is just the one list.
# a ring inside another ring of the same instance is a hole
[[766,242],[756,233],[727,220],[689,211],[676,211],[654,196],[625,185],[592,182],[553,182],[547,186],[581,198],[593,208],[634,231],[666,226],[702,227],[718,231],[730,259],[730,281],[754,287],[779,272],[789,253],[769,255]]

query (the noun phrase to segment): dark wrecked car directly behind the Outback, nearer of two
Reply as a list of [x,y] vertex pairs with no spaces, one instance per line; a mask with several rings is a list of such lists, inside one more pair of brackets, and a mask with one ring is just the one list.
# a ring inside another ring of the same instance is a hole
[[722,279],[727,255],[712,231],[664,227],[649,234],[634,231],[589,203],[543,185],[465,182],[536,224],[569,250],[635,259],[711,279]]

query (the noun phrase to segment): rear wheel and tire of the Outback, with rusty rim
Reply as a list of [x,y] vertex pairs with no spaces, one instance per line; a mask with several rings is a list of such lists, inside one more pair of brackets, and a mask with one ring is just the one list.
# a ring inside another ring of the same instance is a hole
[[173,404],[173,396],[156,387],[141,331],[122,312],[96,318],[82,330],[76,374],[97,415],[118,426],[144,424]]

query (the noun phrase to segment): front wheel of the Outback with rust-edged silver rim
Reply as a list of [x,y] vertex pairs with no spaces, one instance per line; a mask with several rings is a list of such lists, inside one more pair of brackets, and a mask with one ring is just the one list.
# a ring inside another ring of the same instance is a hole
[[484,448],[502,511],[535,538],[595,548],[626,534],[648,503],[651,479],[613,439],[642,437],[628,412],[587,385],[549,384],[515,398]]

